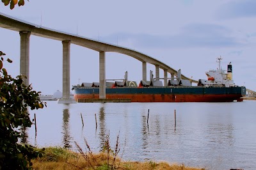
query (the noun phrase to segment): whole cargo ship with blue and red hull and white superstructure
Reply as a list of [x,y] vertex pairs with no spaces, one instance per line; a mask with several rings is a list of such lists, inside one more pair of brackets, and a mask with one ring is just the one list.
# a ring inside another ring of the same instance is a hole
[[[181,79],[180,70],[175,78],[168,80],[168,86],[154,79],[150,71],[150,81],[127,80],[127,72],[123,81],[106,82],[106,99],[129,102],[242,102],[246,95],[244,86],[236,86],[232,80],[232,65],[227,70],[221,69],[221,59],[218,58],[217,70],[205,72],[207,79],[199,79],[196,86],[189,80]],[[99,99],[99,82],[83,82],[72,88],[77,102]]]

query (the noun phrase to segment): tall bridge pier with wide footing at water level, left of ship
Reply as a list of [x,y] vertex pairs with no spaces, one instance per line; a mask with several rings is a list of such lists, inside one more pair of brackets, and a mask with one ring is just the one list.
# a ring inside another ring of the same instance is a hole
[[70,41],[63,41],[62,47],[62,98],[58,104],[76,104],[76,101],[70,98]]

